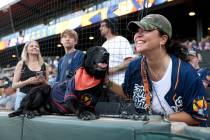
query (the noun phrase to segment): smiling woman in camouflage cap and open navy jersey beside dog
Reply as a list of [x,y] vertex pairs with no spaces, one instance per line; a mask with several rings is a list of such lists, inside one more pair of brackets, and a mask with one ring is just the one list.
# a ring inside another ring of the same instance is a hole
[[150,14],[131,21],[134,42],[142,57],[132,61],[122,86],[108,82],[112,91],[133,99],[138,113],[164,115],[170,121],[206,126],[205,89],[196,71],[186,61],[184,47],[172,43],[171,23]]

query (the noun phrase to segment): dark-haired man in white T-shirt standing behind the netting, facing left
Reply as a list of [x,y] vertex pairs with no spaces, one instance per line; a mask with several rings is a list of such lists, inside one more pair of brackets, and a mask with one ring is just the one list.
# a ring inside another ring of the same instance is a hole
[[118,35],[115,19],[104,19],[100,24],[100,32],[101,36],[106,38],[102,47],[110,53],[109,78],[118,84],[122,84],[125,69],[134,55],[133,49],[126,38]]

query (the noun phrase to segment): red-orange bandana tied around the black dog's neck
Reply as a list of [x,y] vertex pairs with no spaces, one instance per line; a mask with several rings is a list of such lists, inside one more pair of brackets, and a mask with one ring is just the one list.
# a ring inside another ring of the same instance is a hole
[[85,90],[98,85],[101,80],[87,74],[85,69],[79,68],[75,74],[75,89]]

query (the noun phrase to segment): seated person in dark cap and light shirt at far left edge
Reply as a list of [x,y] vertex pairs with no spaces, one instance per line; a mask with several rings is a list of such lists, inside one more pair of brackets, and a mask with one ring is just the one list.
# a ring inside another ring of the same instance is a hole
[[13,110],[15,105],[16,89],[12,88],[12,82],[7,77],[0,80],[0,88],[2,88],[2,96],[0,97],[0,109]]

